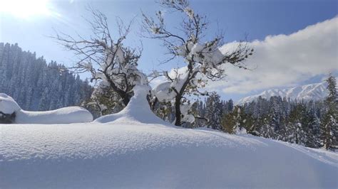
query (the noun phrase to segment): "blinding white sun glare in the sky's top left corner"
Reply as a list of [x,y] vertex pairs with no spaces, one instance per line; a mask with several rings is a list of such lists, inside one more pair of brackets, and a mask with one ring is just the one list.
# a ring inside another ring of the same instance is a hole
[[0,13],[20,18],[51,15],[49,0],[0,0]]

